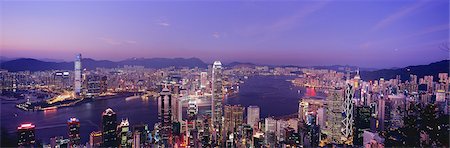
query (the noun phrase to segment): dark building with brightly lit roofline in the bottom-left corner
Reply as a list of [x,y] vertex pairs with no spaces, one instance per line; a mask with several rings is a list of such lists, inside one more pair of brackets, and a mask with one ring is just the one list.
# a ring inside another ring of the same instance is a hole
[[36,143],[34,135],[35,126],[31,123],[21,124],[17,128],[17,145],[19,147],[33,147]]

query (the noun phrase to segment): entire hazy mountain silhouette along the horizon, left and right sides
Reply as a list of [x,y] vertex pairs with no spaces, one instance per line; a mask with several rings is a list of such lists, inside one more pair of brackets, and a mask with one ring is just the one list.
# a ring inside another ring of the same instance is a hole
[[[449,60],[443,60],[428,65],[418,65],[418,66],[408,66],[398,69],[381,69],[381,70],[370,70],[361,69],[361,78],[363,80],[378,80],[380,78],[392,79],[397,75],[400,75],[403,81],[409,79],[410,74],[417,75],[418,77],[423,77],[425,75],[432,75],[435,80],[438,79],[438,74],[442,72],[449,73]],[[94,60],[90,58],[82,59],[83,68],[92,70],[95,68],[116,68],[123,67],[124,65],[136,65],[144,66],[146,68],[167,68],[167,67],[199,67],[206,68],[207,64],[198,58],[131,58],[123,61],[108,61],[108,60]],[[253,67],[256,64],[253,63],[241,63],[232,62],[227,64],[227,67]],[[344,68],[348,67],[355,70],[356,67],[352,66],[313,66],[317,69],[333,69],[337,71],[344,71]],[[45,62],[41,60],[31,59],[31,58],[20,58],[10,61],[4,61],[0,63],[0,69],[6,69],[8,71],[44,71],[44,70],[73,70],[73,62]]]

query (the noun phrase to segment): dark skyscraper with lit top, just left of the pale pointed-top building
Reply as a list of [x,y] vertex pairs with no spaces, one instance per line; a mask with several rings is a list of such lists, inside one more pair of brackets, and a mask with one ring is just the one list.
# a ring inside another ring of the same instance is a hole
[[108,108],[103,112],[102,115],[102,147],[117,147],[117,115],[111,109]]

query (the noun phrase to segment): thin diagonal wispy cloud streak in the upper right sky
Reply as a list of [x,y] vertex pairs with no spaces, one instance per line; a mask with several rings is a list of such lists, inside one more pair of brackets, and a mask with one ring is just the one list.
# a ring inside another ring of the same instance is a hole
[[387,27],[391,25],[392,23],[396,22],[397,20],[402,19],[405,16],[408,16],[409,14],[413,13],[414,11],[418,10],[419,8],[423,7],[426,4],[427,1],[421,0],[417,1],[414,4],[411,4],[407,7],[404,7],[400,9],[399,11],[387,16],[383,20],[379,21],[372,30],[378,30],[384,27]]

